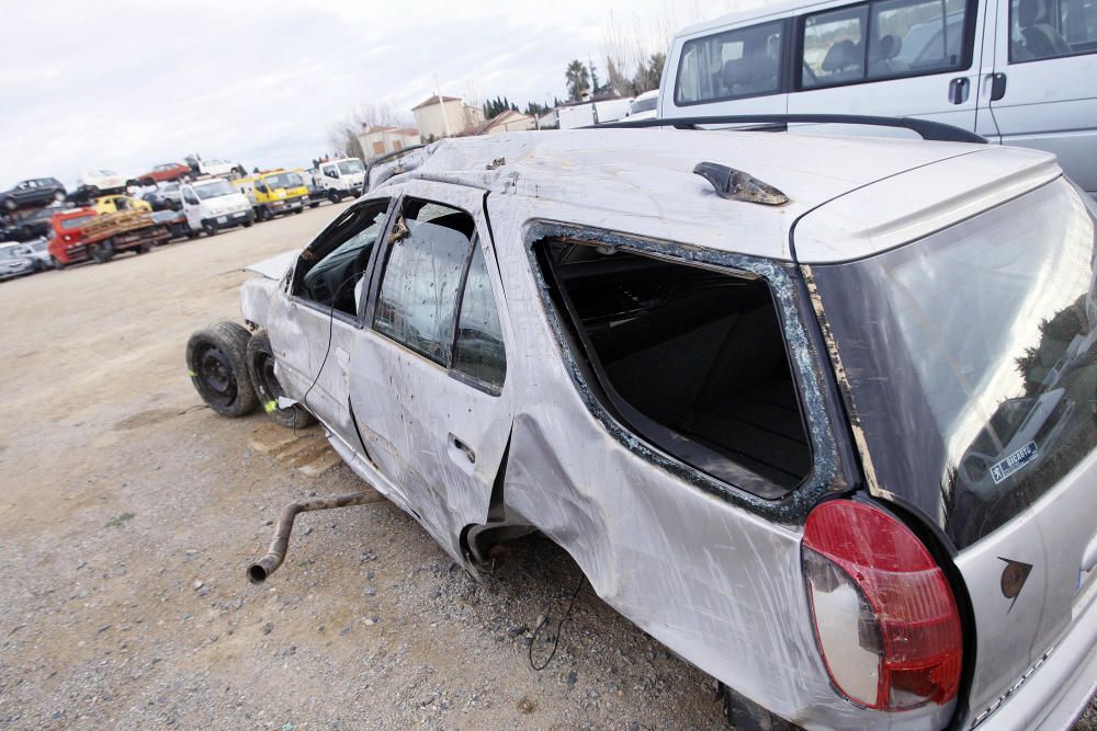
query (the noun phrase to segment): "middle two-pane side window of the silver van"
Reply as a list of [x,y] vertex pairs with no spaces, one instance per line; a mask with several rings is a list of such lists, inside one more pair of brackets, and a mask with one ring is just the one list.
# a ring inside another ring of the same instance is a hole
[[801,89],[970,66],[965,0],[878,0],[808,15]]

